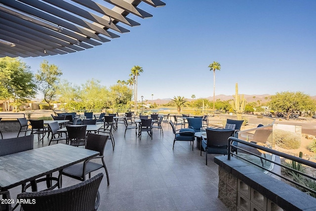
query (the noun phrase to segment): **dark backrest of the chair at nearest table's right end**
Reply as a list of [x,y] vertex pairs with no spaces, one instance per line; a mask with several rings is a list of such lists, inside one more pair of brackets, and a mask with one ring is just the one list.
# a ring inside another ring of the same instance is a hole
[[99,152],[100,156],[104,154],[104,148],[107,144],[109,136],[108,135],[101,135],[96,133],[88,133],[87,136],[87,143],[85,148],[93,151]]

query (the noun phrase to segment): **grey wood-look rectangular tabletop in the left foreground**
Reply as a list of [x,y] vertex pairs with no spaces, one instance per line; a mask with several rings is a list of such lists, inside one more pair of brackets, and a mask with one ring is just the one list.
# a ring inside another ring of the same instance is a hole
[[99,155],[99,152],[54,144],[0,157],[0,191],[5,191],[37,178]]

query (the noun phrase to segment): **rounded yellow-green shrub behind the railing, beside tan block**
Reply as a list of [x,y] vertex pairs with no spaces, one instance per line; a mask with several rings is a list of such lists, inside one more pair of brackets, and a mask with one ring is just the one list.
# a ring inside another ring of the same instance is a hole
[[301,136],[294,132],[275,129],[273,131],[273,141],[277,146],[284,149],[298,149],[301,145]]

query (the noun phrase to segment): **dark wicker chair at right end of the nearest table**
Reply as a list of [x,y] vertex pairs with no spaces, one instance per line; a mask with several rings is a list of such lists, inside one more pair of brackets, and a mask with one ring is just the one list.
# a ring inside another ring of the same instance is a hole
[[[104,148],[105,148],[105,145],[107,144],[108,138],[109,138],[108,135],[89,133],[87,136],[87,144],[85,148],[89,150],[97,151],[99,152],[99,155],[89,160],[86,160],[83,163],[79,163],[79,164],[75,164],[70,167],[67,167],[63,169],[61,174],[65,176],[69,176],[74,179],[78,179],[80,181],[84,181],[86,174],[89,174],[89,178],[90,178],[91,172],[104,168],[105,173],[107,175],[108,185],[110,185],[109,173],[104,161]],[[101,164],[100,162],[98,163],[92,162],[92,160],[94,159],[101,159]],[[60,180],[61,180],[60,186],[62,186],[62,178],[60,178]]]

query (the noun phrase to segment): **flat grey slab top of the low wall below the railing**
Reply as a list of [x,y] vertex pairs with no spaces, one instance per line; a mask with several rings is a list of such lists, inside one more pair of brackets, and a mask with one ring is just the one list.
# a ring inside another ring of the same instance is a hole
[[[316,198],[302,191],[266,175],[259,169],[248,166],[246,163],[232,157],[229,161],[227,156],[218,156],[214,161],[219,169],[224,169],[237,180],[249,185],[252,189],[267,197],[279,208],[286,211],[312,211],[316,210]],[[221,180],[221,175],[220,180]],[[219,187],[220,189],[221,187]],[[219,191],[220,192],[220,191]],[[228,193],[226,193],[228,194]]]

